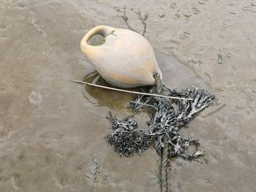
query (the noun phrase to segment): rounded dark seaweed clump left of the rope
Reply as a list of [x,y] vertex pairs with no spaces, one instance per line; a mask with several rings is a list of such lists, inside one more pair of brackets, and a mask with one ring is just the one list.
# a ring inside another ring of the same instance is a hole
[[110,112],[113,133],[106,136],[108,144],[114,147],[118,155],[129,157],[140,154],[151,145],[151,138],[145,131],[138,129],[138,123],[131,118],[117,120]]

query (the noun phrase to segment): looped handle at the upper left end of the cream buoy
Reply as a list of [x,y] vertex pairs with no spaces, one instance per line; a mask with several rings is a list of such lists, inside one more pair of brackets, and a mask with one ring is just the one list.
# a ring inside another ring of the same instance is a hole
[[99,49],[100,46],[94,46],[94,45],[89,45],[87,42],[91,37],[94,35],[101,35],[102,37],[107,37],[108,34],[110,34],[111,31],[113,31],[114,28],[110,26],[96,26],[92,28],[88,33],[83,37],[83,39],[80,42],[80,47],[83,53],[88,54],[89,50],[96,50]]

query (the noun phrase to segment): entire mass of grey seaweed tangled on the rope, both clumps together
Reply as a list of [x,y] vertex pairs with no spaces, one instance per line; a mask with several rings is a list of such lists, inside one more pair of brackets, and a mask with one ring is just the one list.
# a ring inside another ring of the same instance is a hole
[[[146,130],[137,129],[138,125],[132,118],[118,121],[112,118],[113,134],[107,136],[107,141],[113,145],[119,155],[129,156],[133,153],[141,153],[154,144],[159,155],[167,143],[168,155],[181,156],[192,160],[203,155],[200,150],[187,153],[189,145],[199,145],[198,139],[184,139],[179,134],[181,127],[195,118],[196,115],[216,101],[214,95],[195,86],[191,88],[170,90],[164,88],[167,96],[190,98],[192,100],[159,99],[152,96],[137,95],[131,101],[129,108],[138,111],[144,109],[151,115]],[[149,91],[154,93],[154,88]],[[153,108],[148,110],[148,107]],[[164,138],[167,139],[164,141]]]

